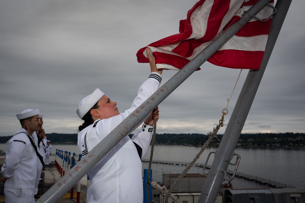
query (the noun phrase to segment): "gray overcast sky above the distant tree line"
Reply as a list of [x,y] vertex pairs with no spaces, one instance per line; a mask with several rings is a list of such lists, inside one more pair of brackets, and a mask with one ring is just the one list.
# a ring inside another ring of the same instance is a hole
[[[16,114],[28,108],[40,109],[46,133],[77,133],[78,104],[96,88],[120,112],[129,108],[150,73],[136,52],[178,33],[196,2],[0,1],[0,136],[13,135],[20,128]],[[304,0],[292,1],[242,133],[305,132],[304,8]],[[159,105],[157,133],[206,134],[219,123],[240,70],[209,62],[201,69]],[[175,73],[163,71],[161,85]]]

